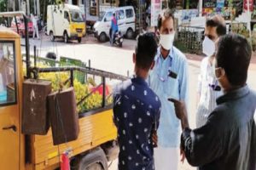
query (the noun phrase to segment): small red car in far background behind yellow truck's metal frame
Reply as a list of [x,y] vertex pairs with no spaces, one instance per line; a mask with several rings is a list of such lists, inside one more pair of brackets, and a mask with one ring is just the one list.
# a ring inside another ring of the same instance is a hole
[[[16,17],[17,20],[17,26],[19,29],[19,34],[20,37],[25,37],[25,23],[22,17]],[[17,26],[16,26],[16,22],[15,22],[15,18],[13,18],[12,22],[11,22],[11,29],[15,32],[17,31]],[[28,19],[28,23],[27,23],[27,28],[28,28],[28,34],[29,36],[33,35],[33,24],[32,24],[32,20]]]

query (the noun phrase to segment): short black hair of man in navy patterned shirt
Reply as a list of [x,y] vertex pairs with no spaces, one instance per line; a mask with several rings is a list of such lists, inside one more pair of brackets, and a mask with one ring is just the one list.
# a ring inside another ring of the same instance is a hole
[[138,68],[148,70],[154,61],[157,52],[157,43],[154,33],[144,33],[137,37],[136,65]]

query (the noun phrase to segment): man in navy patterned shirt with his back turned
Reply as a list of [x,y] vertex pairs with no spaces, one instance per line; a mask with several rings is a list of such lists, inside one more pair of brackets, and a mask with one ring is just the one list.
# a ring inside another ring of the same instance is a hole
[[[118,128],[119,170],[154,170],[153,133],[159,124],[160,99],[145,79],[154,67],[157,43],[152,34],[137,37],[133,54],[136,76],[113,93],[113,120]],[[155,140],[154,140],[155,141]]]

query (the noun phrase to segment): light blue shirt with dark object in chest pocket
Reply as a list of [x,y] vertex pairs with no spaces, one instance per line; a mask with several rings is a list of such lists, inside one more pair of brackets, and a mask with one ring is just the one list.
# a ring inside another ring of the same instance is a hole
[[148,84],[159,96],[161,102],[160,126],[157,131],[158,145],[178,147],[181,133],[180,121],[175,114],[174,105],[167,99],[183,100],[188,105],[188,61],[185,55],[173,47],[167,58],[163,59],[159,48],[155,56],[154,69],[148,77]]

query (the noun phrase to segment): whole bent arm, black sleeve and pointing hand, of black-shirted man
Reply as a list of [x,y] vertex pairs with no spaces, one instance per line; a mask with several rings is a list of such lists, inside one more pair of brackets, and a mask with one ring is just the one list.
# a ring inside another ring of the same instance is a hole
[[199,167],[221,156],[224,151],[224,134],[218,131],[218,116],[212,113],[205,126],[191,130],[184,103],[176,99],[169,100],[173,102],[176,116],[182,123],[181,149],[189,164]]

